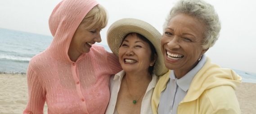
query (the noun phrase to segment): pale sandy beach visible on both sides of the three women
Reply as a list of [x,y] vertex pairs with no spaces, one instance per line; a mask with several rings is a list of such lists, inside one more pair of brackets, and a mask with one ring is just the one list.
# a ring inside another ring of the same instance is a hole
[[[236,90],[241,114],[256,114],[256,83],[243,82]],[[27,104],[25,74],[0,74],[0,114],[22,114]],[[45,105],[44,114],[47,114]]]

